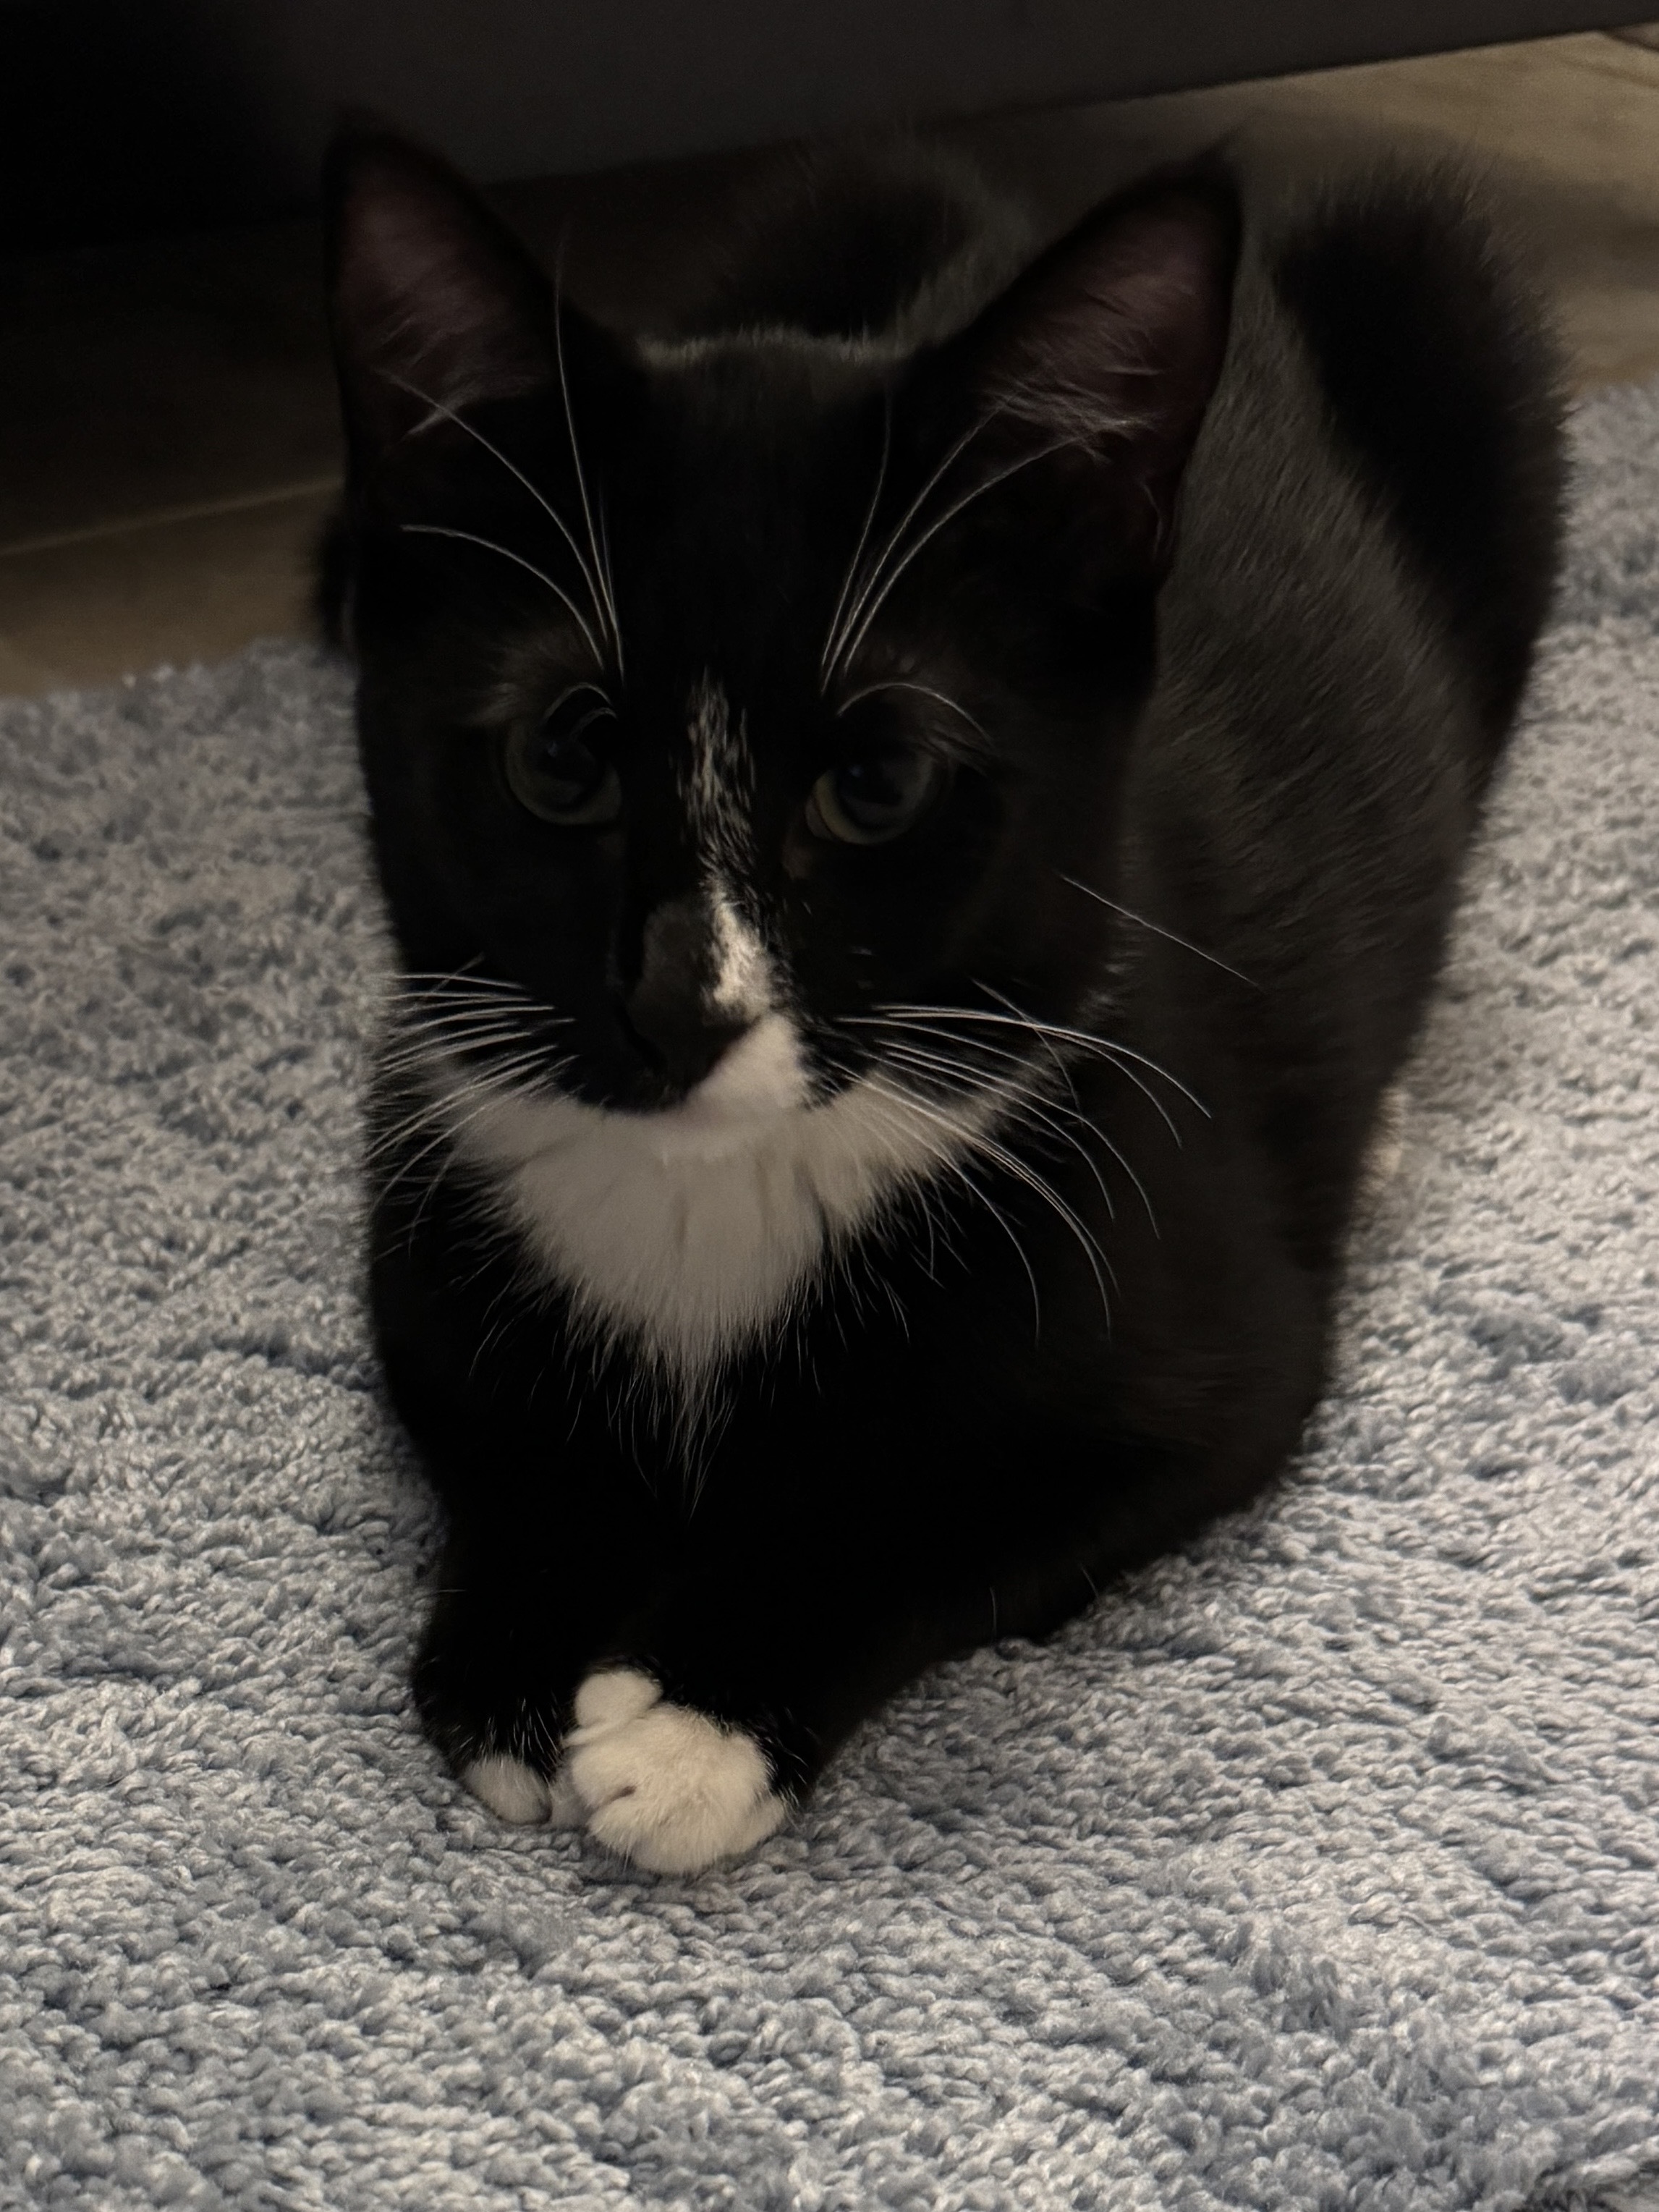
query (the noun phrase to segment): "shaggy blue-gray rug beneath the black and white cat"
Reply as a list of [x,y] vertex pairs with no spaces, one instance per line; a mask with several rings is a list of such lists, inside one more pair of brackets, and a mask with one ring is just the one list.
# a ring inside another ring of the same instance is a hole
[[940,1670],[752,1863],[493,1820],[403,1688],[341,675],[0,712],[0,2201],[1619,2205],[1659,2172],[1659,394],[1259,1513]]

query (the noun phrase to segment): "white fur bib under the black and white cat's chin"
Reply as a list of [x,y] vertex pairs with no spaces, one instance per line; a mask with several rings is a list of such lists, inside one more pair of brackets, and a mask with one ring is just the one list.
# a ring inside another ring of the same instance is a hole
[[606,1336],[697,1383],[774,1329],[894,1197],[967,1155],[1006,1093],[945,1106],[867,1075],[812,1104],[794,1024],[768,1013],[668,1113],[502,1091],[453,1064],[456,1155]]

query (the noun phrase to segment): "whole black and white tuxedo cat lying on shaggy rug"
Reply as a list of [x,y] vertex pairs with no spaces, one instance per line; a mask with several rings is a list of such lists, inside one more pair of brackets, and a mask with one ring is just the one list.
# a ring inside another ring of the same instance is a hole
[[1444,181],[1259,237],[1199,166],[1031,257],[821,166],[648,341],[394,137],[330,201],[416,1699],[690,1871],[1296,1444],[1551,591],[1551,352]]

